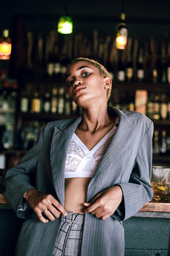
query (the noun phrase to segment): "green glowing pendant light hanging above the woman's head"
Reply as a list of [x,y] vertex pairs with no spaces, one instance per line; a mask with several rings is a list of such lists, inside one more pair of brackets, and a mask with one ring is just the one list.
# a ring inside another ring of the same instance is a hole
[[65,1],[63,16],[60,17],[58,22],[58,32],[61,34],[71,34],[73,32],[73,21],[72,18],[68,16],[67,0]]

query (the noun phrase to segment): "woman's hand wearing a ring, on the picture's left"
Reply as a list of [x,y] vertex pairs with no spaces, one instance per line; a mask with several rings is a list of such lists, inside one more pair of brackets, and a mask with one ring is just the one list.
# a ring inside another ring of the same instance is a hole
[[29,203],[29,206],[33,209],[33,211],[37,214],[38,218],[43,223],[48,222],[48,220],[42,216],[42,213],[45,210],[48,211],[44,214],[51,221],[55,220],[54,216],[59,218],[61,213],[66,215],[66,211],[63,206],[50,194],[42,193],[36,189],[29,189],[24,193],[23,197],[26,199],[26,201]]

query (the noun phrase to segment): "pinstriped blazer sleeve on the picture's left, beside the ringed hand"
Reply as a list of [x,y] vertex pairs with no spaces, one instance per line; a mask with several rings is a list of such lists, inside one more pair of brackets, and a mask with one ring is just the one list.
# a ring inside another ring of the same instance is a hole
[[36,164],[48,127],[49,123],[40,131],[33,147],[17,165],[3,172],[2,194],[19,218],[25,219],[25,214],[31,210],[23,195],[27,190],[35,189],[32,182],[36,175]]

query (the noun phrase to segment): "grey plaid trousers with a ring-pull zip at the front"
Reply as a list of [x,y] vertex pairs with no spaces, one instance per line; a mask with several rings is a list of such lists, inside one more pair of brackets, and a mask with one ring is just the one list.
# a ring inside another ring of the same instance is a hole
[[[67,216],[63,216],[52,256],[80,256],[84,214],[66,212]],[[76,216],[74,223],[71,223],[73,215]]]

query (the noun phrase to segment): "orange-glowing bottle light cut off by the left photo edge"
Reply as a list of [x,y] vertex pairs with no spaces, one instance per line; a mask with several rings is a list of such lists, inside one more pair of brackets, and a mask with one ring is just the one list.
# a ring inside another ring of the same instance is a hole
[[9,60],[11,55],[11,39],[8,37],[9,30],[3,31],[3,37],[0,38],[0,60]]

